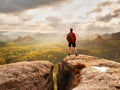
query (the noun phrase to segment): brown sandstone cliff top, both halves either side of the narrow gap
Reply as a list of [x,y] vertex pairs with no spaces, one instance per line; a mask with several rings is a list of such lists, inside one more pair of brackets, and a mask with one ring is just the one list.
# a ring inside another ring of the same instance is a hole
[[[53,64],[19,62],[0,66],[0,90],[54,90]],[[58,64],[58,90],[120,90],[120,63],[93,56],[67,56]]]

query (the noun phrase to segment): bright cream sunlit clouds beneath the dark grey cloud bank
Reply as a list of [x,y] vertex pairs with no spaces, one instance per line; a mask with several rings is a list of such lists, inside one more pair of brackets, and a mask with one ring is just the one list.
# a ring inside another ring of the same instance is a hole
[[[0,30],[67,32],[73,27],[78,33],[93,32],[120,23],[119,5],[115,0],[63,0],[36,8],[26,7],[18,13],[0,14]],[[49,3],[45,1],[46,3]],[[42,4],[40,2],[40,4]],[[28,8],[28,9],[27,9]],[[102,28],[101,28],[102,27]],[[118,27],[119,28],[119,27]],[[107,30],[106,29],[106,30]],[[104,29],[105,30],[105,29]],[[110,31],[110,30],[109,30]],[[111,30],[113,32],[114,30]]]

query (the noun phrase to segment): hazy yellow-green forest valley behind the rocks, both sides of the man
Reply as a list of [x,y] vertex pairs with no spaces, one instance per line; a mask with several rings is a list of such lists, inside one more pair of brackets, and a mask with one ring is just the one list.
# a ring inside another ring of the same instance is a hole
[[[97,56],[120,62],[120,40],[101,39],[78,40],[78,54]],[[67,56],[67,42],[29,43],[16,41],[0,42],[0,64],[20,61],[49,60],[57,64]]]

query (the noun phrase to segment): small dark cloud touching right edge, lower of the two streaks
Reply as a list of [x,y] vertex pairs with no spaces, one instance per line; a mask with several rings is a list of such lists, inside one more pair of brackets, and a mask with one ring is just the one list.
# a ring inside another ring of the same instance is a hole
[[103,21],[103,22],[109,22],[111,21],[113,18],[118,18],[120,16],[120,14],[107,14],[105,16],[99,16],[97,17],[97,21]]

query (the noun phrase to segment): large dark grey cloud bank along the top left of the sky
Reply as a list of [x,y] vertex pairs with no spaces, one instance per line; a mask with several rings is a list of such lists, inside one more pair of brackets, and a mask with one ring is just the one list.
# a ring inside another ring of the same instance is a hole
[[59,4],[66,0],[0,0],[0,13],[12,13],[26,9]]

